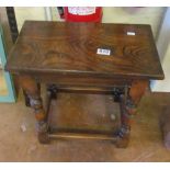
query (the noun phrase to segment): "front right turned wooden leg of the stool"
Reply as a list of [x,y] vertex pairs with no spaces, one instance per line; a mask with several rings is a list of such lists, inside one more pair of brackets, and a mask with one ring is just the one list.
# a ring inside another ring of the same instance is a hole
[[116,133],[117,147],[127,147],[131,132],[131,117],[136,112],[143,94],[148,87],[148,81],[133,81],[131,88],[125,89],[124,93],[120,93],[120,109],[121,109],[121,128]]

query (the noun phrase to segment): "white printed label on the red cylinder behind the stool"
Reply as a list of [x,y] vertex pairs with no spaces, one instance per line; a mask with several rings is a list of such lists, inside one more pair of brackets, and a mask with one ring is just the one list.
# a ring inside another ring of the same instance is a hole
[[95,7],[68,7],[68,12],[77,15],[89,15],[95,13]]

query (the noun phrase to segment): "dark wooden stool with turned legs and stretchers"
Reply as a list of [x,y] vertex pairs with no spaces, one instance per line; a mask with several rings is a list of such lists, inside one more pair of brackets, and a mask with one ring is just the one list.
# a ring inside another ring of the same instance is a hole
[[[121,125],[107,134],[65,128],[57,131],[57,135],[78,137],[81,134],[112,139],[118,147],[126,147],[131,115],[149,80],[163,79],[151,29],[139,24],[26,21],[5,69],[19,76],[29,95],[42,144],[55,136],[47,115],[56,93],[78,92],[113,95],[120,103]],[[47,110],[37,86],[42,82],[52,84]]]

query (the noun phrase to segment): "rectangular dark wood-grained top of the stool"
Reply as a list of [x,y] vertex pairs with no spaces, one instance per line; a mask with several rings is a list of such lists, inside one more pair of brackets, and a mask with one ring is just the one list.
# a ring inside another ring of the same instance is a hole
[[[110,55],[98,54],[109,49]],[[7,70],[163,79],[150,25],[26,21]]]

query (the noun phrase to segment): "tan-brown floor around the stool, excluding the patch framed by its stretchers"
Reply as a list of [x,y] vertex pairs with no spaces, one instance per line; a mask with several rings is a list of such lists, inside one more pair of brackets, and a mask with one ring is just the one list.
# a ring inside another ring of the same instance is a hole
[[169,101],[170,93],[145,94],[125,149],[110,140],[93,139],[58,139],[41,145],[34,115],[24,106],[20,92],[15,104],[0,103],[0,161],[170,161],[159,128],[159,116]]

